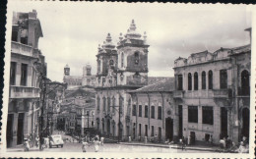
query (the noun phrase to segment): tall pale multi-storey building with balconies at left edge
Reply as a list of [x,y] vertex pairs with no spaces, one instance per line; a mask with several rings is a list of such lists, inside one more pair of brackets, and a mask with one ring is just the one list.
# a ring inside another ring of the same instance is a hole
[[[37,135],[41,74],[46,76],[44,56],[38,49],[42,37],[36,11],[14,13],[11,44],[7,147],[23,144]],[[38,64],[40,63],[40,69]]]

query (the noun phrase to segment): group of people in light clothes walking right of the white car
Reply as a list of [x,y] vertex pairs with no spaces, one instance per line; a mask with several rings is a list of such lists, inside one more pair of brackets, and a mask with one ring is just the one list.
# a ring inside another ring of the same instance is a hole
[[95,152],[98,152],[99,150],[99,145],[103,145],[104,144],[104,137],[101,136],[100,140],[99,140],[99,136],[96,134],[95,137],[93,137],[91,140],[89,139],[89,137],[85,137],[83,142],[82,142],[82,150],[83,152],[87,152],[87,148],[89,146],[91,146],[92,144],[94,144],[95,146]]

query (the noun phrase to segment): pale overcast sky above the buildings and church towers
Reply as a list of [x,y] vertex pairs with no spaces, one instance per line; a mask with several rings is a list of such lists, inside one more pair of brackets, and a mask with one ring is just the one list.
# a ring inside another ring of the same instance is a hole
[[[8,4],[9,11],[37,11],[43,37],[38,48],[45,55],[48,78],[63,80],[68,64],[71,75],[82,76],[87,63],[96,74],[97,45],[109,32],[113,42],[134,20],[148,35],[149,76],[172,77],[174,60],[191,53],[249,43],[251,16],[245,6],[27,2]],[[21,7],[22,6],[22,7]]]

